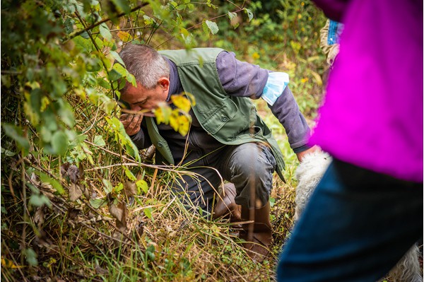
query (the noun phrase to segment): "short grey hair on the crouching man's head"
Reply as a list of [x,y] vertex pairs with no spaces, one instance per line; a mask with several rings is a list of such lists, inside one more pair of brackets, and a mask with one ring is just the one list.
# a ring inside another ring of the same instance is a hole
[[155,88],[159,78],[170,77],[170,66],[167,61],[148,45],[126,45],[119,52],[119,56],[129,73],[145,88]]

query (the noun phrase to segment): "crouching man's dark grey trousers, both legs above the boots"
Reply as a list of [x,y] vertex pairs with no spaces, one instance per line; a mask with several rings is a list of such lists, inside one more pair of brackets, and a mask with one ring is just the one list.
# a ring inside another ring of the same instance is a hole
[[237,204],[261,207],[269,201],[275,168],[276,160],[271,149],[264,144],[224,146],[208,154],[207,163],[190,165],[187,170],[196,172],[199,177],[193,179],[184,175],[173,185],[174,192],[182,196],[183,203],[189,208],[197,206],[210,213],[216,189],[221,184],[219,172],[222,180],[235,185]]

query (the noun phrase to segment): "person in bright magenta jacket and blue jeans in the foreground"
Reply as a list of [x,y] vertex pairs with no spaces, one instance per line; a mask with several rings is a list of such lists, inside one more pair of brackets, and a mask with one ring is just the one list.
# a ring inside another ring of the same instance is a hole
[[314,0],[344,24],[310,145],[334,160],[278,281],[377,281],[423,237],[423,1]]

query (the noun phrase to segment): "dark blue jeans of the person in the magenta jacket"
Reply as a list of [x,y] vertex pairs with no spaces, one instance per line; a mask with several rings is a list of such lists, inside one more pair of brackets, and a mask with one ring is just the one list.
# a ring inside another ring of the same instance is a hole
[[375,282],[422,236],[422,183],[334,160],[283,249],[277,280]]

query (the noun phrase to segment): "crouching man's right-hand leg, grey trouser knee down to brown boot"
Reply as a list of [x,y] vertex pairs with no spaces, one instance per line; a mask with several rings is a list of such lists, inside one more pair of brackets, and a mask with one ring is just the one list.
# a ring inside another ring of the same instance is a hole
[[269,221],[269,194],[276,160],[271,150],[259,143],[232,146],[225,151],[220,170],[226,180],[235,184],[235,202],[242,206],[240,238],[252,259],[261,261],[269,253],[272,227]]

